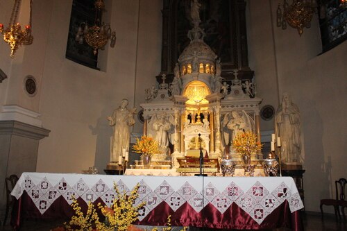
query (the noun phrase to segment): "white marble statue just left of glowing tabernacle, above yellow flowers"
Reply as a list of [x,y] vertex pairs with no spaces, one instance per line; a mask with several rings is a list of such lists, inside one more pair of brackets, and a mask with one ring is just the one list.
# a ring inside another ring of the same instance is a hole
[[152,123],[153,130],[155,130],[154,139],[158,142],[160,148],[166,148],[169,146],[169,136],[168,131],[171,128],[171,123],[167,117],[166,112],[162,112],[153,117],[154,121]]

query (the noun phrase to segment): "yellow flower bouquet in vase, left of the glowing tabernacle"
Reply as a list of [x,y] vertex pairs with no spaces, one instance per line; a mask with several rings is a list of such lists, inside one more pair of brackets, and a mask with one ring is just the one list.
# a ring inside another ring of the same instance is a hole
[[153,137],[142,136],[141,139],[136,138],[136,144],[133,145],[133,151],[142,155],[153,156],[160,153],[158,142]]

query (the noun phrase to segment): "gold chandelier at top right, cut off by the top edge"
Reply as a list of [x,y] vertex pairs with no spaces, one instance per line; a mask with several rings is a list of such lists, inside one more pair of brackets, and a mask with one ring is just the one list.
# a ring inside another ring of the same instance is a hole
[[289,24],[296,28],[301,36],[304,27],[310,28],[316,8],[316,0],[293,0],[290,6],[286,0],[283,0],[283,3],[278,4],[277,8],[277,26],[285,30]]

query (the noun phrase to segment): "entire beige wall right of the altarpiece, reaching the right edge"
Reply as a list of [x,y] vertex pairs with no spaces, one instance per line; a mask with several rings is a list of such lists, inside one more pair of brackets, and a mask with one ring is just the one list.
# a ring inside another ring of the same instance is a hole
[[[347,42],[319,55],[317,15],[300,37],[294,28],[276,27],[277,6],[278,1],[248,1],[250,66],[262,105],[277,109],[278,99],[288,92],[301,110],[305,209],[318,212],[319,200],[334,197],[335,180],[347,173]],[[273,129],[273,120],[262,121],[261,128]]]

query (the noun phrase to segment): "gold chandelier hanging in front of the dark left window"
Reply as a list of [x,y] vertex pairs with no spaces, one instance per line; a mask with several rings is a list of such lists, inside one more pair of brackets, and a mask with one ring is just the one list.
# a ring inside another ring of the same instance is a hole
[[93,26],[88,26],[87,22],[81,23],[76,33],[76,41],[83,44],[83,41],[94,49],[94,55],[98,53],[99,49],[103,49],[108,40],[111,40],[110,46],[115,47],[116,32],[111,31],[110,24],[103,24],[100,22],[102,11],[105,9],[103,0],[96,0],[95,6],[95,20]]

